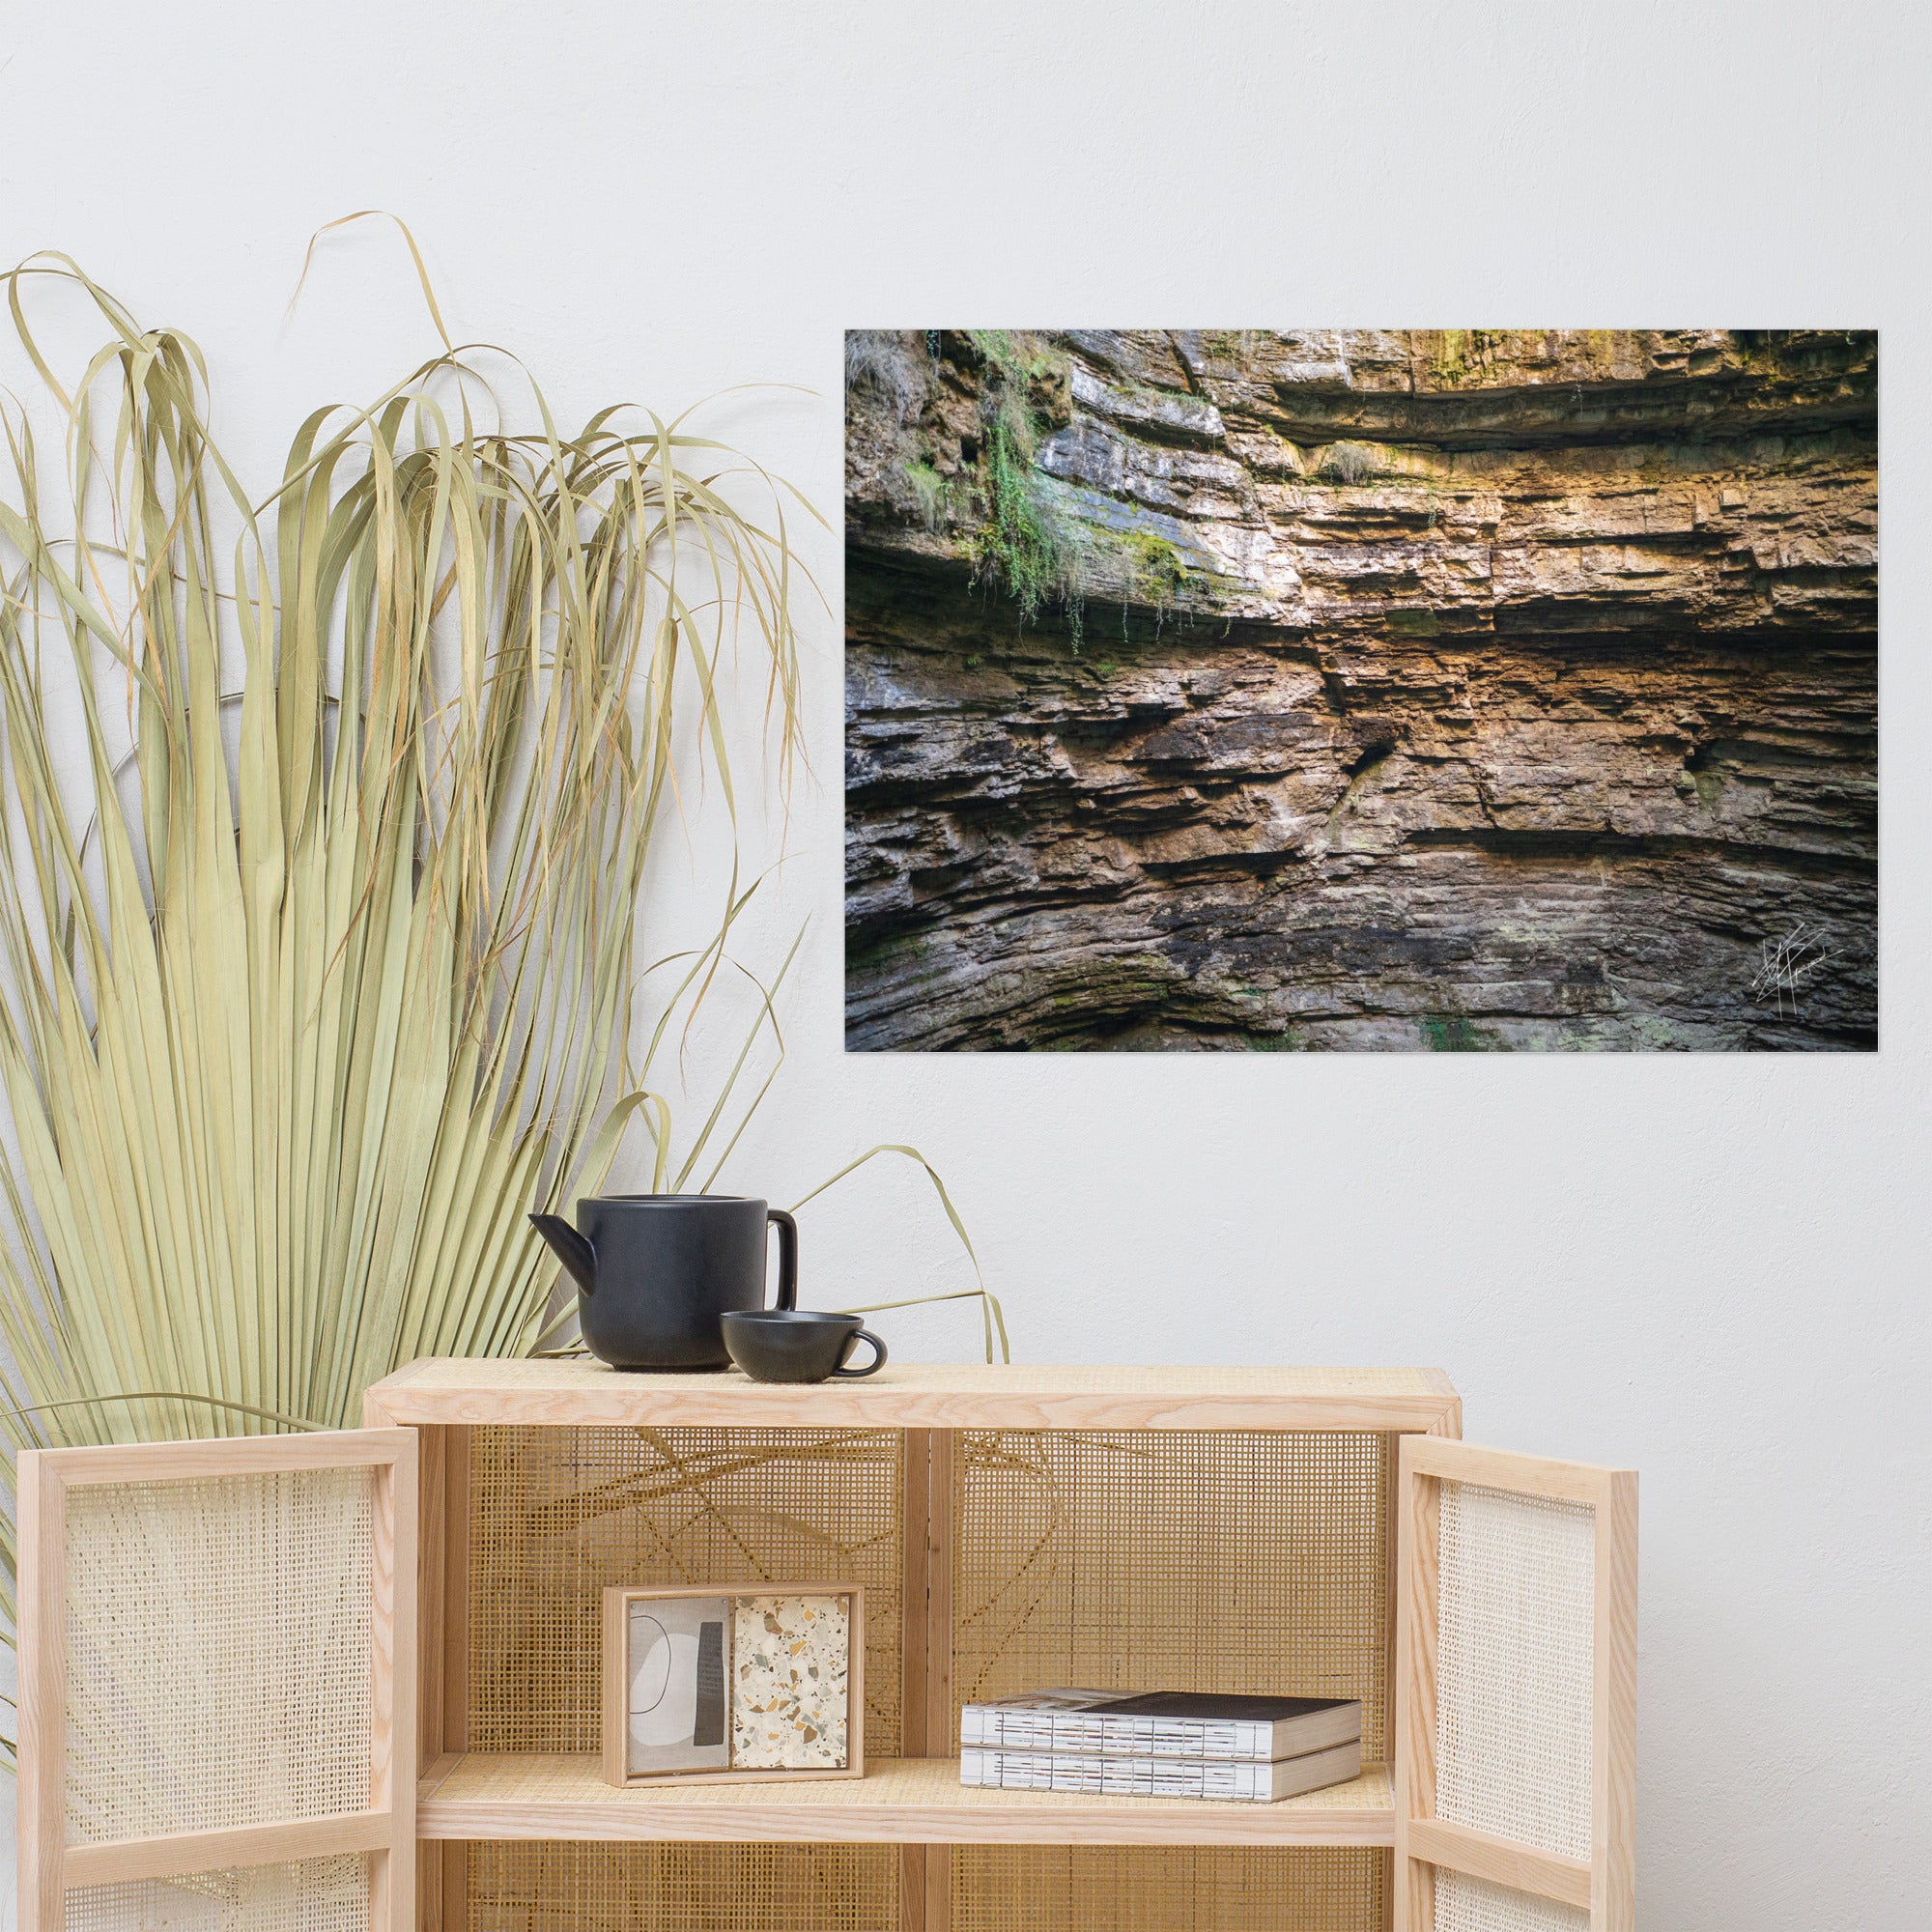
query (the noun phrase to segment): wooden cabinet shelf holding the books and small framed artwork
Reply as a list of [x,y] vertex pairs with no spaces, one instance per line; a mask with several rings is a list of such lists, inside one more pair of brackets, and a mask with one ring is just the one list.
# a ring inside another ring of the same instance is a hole
[[864,1777],[620,1791],[597,1760],[439,1758],[417,1787],[427,1839],[711,1839],[815,1845],[1393,1845],[1387,1766],[1279,1804],[974,1791],[952,1758],[883,1758]]

